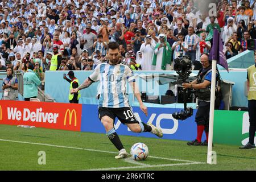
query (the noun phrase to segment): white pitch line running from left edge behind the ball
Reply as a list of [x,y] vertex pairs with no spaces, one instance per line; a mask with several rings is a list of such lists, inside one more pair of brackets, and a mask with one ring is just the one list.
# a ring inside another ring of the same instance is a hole
[[[86,151],[93,151],[93,152],[104,152],[104,153],[109,153],[109,154],[118,154],[118,152],[110,152],[110,151],[103,151],[103,150],[95,150],[95,149],[90,149],[90,148],[57,146],[57,145],[46,144],[46,143],[23,142],[23,141],[6,140],[6,139],[0,139],[0,141],[3,141],[3,142],[15,142],[15,143],[25,143],[25,144],[36,144],[36,145],[40,145],[40,146],[59,147],[59,148],[71,148],[71,149],[76,149],[76,150],[86,150]],[[191,160],[161,158],[161,157],[157,157],[157,156],[148,156],[148,158],[164,159],[164,160],[174,160],[174,161],[188,162],[188,163],[200,163],[200,162],[195,162],[195,161],[191,161]]]

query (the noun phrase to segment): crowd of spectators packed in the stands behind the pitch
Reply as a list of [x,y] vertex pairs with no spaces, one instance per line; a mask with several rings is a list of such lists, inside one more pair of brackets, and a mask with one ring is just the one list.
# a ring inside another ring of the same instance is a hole
[[216,1],[217,16],[209,16],[201,0],[3,0],[0,69],[26,72],[32,63],[43,79],[57,47],[56,70],[89,71],[108,60],[109,42],[134,70],[170,70],[181,55],[199,69],[214,28],[227,59],[246,51],[256,37],[255,2]]

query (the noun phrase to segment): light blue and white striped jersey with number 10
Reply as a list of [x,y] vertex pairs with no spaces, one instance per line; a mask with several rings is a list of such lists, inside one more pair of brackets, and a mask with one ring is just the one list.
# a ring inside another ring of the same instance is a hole
[[126,80],[134,82],[133,70],[125,61],[118,64],[98,64],[89,79],[100,81],[98,94],[100,94],[98,107],[120,108],[129,107],[126,96]]

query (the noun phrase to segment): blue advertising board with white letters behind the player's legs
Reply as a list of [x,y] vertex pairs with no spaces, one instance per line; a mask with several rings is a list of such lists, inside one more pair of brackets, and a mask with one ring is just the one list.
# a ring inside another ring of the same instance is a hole
[[[196,138],[195,115],[197,110],[193,111],[192,117],[189,117],[184,121],[178,121],[172,117],[172,113],[180,111],[181,109],[156,107],[148,107],[147,109],[148,116],[146,117],[139,107],[133,107],[135,117],[138,121],[142,121],[144,123],[152,122],[156,127],[160,127],[163,131],[163,139],[188,141]],[[97,105],[82,105],[81,131],[106,133],[104,126],[100,119],[98,119],[97,110]],[[133,133],[126,125],[123,125],[118,121],[117,118],[115,119],[114,127],[118,135],[158,138],[151,133]]]

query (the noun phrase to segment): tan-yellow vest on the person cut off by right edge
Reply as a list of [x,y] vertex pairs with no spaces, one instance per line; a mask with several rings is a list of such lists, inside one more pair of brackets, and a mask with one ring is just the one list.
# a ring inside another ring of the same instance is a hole
[[256,68],[252,65],[248,68],[249,92],[248,100],[256,100]]

